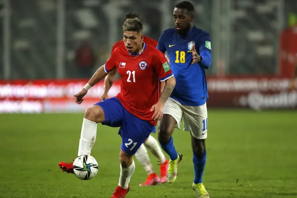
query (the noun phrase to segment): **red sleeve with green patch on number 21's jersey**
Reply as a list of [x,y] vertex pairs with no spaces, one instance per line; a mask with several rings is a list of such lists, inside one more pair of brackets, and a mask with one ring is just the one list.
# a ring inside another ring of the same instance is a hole
[[165,55],[160,52],[158,50],[158,52],[156,53],[156,57],[155,57],[155,67],[156,67],[156,71],[159,75],[159,79],[160,81],[165,81],[168,78],[173,76],[173,73],[170,69],[170,66],[167,62],[167,58],[165,57]]

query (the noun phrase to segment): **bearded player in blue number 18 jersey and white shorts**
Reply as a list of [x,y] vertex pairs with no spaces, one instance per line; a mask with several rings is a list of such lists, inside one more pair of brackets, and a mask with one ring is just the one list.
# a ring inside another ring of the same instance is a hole
[[176,86],[164,106],[158,139],[170,156],[167,182],[173,183],[182,155],[176,152],[171,137],[184,118],[184,131],[191,132],[194,182],[197,197],[209,197],[202,183],[206,164],[205,139],[207,137],[208,98],[205,69],[211,65],[211,39],[209,34],[193,26],[194,6],[189,1],[176,4],[173,11],[175,28],[165,30],[157,49],[167,51],[170,67],[176,77]]

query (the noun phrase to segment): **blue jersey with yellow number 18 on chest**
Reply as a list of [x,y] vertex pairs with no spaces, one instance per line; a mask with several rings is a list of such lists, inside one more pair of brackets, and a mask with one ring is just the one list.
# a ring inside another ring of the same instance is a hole
[[[202,61],[192,64],[192,45]],[[181,36],[175,28],[165,30],[159,38],[157,49],[167,51],[169,65],[176,79],[171,98],[188,106],[200,106],[208,98],[205,69],[211,64],[211,40],[208,32],[195,26]]]

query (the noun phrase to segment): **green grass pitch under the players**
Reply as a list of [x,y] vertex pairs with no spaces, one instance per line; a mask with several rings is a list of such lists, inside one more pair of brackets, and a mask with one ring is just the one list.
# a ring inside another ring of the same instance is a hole
[[[211,198],[297,197],[296,111],[209,110],[208,116],[203,182]],[[108,198],[118,185],[118,129],[98,125],[91,155],[99,172],[83,181],[58,168],[77,156],[83,114],[4,114],[0,120],[0,197]],[[195,198],[190,135],[176,130],[173,137],[184,155],[176,182],[138,186],[146,173],[135,159],[127,198]],[[159,173],[157,159],[150,159]]]

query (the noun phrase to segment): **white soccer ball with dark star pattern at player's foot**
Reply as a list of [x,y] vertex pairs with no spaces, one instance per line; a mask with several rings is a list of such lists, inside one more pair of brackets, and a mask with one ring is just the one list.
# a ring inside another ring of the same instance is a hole
[[92,179],[98,172],[98,163],[90,155],[79,156],[73,162],[73,172],[79,179]]

